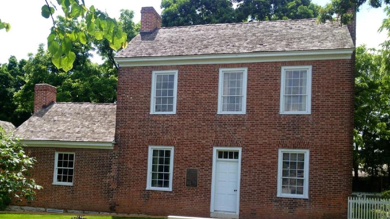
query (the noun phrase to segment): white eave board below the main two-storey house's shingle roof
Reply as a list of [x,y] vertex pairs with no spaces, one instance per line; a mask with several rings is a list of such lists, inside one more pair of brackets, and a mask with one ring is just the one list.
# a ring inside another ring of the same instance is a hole
[[118,57],[120,67],[350,59],[355,48],[206,55]]

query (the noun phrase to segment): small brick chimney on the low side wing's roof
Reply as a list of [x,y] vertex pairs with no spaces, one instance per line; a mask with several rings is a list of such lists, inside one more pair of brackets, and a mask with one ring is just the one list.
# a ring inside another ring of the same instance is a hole
[[48,84],[36,84],[34,87],[34,113],[56,101],[57,89]]

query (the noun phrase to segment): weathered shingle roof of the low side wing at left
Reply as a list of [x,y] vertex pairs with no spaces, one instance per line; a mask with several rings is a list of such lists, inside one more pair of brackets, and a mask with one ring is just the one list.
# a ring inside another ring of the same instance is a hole
[[115,104],[53,103],[21,124],[22,140],[100,141],[115,137]]

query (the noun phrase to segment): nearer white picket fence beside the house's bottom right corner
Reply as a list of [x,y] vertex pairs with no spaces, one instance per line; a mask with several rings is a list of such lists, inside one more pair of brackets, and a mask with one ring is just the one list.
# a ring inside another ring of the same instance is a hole
[[348,219],[389,219],[390,200],[379,198],[348,198]]

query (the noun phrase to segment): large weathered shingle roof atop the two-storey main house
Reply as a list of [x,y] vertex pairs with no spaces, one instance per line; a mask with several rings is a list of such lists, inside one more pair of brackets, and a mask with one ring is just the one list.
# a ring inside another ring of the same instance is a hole
[[347,26],[316,19],[181,26],[134,37],[116,58],[354,48]]

